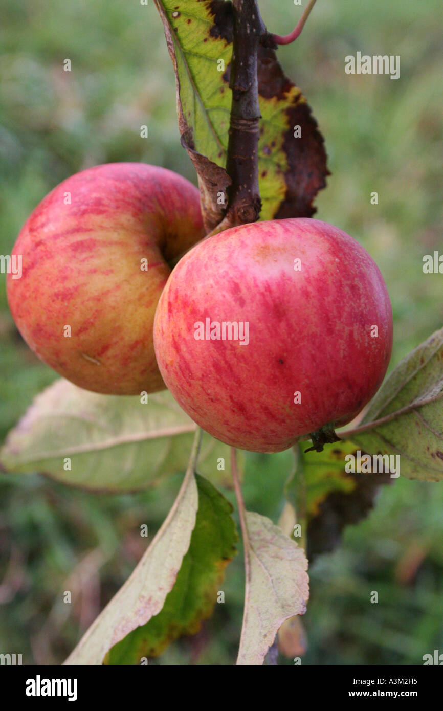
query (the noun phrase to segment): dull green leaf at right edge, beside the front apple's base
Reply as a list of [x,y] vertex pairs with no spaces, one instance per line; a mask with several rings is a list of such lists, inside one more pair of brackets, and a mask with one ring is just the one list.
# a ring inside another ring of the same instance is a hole
[[400,455],[407,479],[442,481],[443,328],[403,358],[350,436],[370,454]]

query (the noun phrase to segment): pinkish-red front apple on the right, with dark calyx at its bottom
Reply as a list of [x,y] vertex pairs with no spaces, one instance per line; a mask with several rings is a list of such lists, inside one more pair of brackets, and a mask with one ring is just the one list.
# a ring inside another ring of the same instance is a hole
[[[206,318],[249,322],[249,343],[196,340],[194,324]],[[378,390],[392,341],[375,262],[346,232],[309,218],[203,240],[174,268],[154,320],[157,362],[178,404],[250,451],[282,451],[350,422]]]

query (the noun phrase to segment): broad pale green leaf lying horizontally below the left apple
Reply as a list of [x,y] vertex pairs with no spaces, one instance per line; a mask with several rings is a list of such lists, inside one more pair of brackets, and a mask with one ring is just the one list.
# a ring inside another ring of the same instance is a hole
[[[136,491],[185,471],[195,431],[168,390],[142,404],[139,397],[98,395],[57,380],[11,430],[0,464],[6,471],[41,471],[88,491]],[[220,458],[225,470],[218,469]],[[199,471],[230,485],[229,447],[206,433]]]

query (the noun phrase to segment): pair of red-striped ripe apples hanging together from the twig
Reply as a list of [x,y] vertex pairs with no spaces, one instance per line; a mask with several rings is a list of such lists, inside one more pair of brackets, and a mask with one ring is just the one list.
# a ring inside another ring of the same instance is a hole
[[390,299],[368,252],[304,218],[203,237],[198,190],[176,173],[134,163],[76,173],[18,235],[21,278],[7,279],[16,326],[76,385],[114,395],[166,385],[234,447],[282,451],[350,422],[392,348]]

